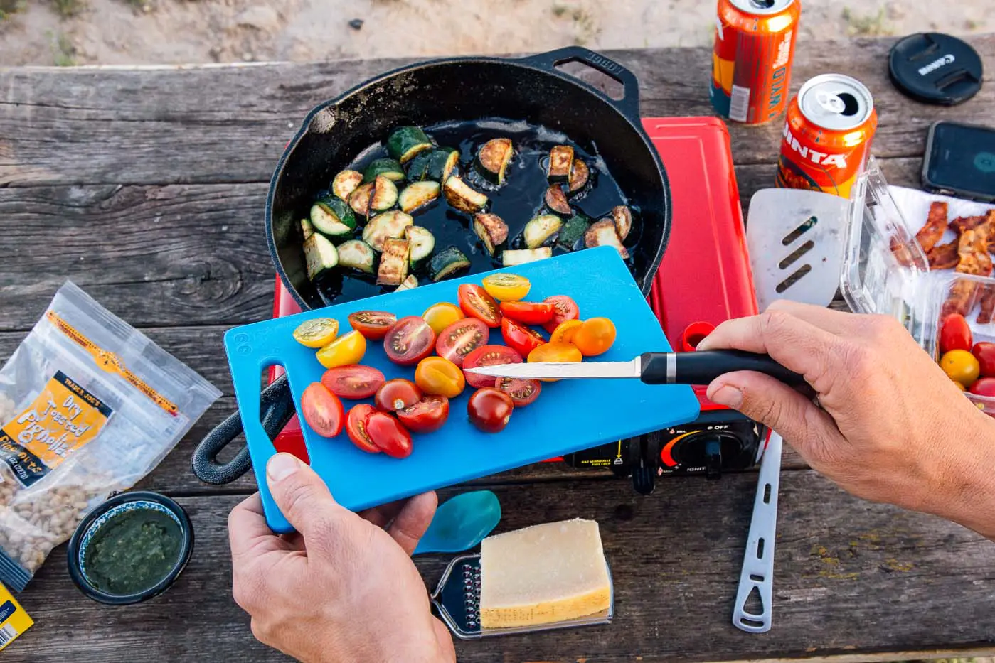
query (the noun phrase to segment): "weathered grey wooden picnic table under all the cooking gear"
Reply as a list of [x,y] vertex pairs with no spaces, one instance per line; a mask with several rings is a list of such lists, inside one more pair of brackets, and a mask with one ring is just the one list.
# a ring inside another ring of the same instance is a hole
[[[969,41],[995,71],[995,35]],[[792,87],[826,72],[867,83],[881,115],[874,152],[892,183],[915,186],[929,123],[991,123],[995,86],[989,74],[974,99],[952,108],[913,102],[888,80],[893,43],[801,42]],[[639,77],[644,115],[711,114],[707,49],[610,56]],[[0,357],[70,278],[224,392],[139,484],[190,513],[197,542],[186,572],[154,600],[105,607],[73,585],[61,547],[20,595],[36,625],[5,661],[284,658],[253,639],[231,597],[226,516],[254,479],[204,485],[190,454],[235,408],[222,334],[271,315],[263,208],[284,145],[310,107],[404,62],[0,69]],[[744,209],[773,183],[781,126],[730,127]],[[774,627],[734,628],[755,482],[755,472],[673,478],[642,497],[628,481],[549,463],[476,482],[500,498],[500,530],[600,522],[617,616],[604,627],[458,641],[460,660],[892,660],[995,649],[995,545],[852,498],[790,452]],[[418,559],[427,584],[447,559]],[[374,561],[370,573],[379,573]]]

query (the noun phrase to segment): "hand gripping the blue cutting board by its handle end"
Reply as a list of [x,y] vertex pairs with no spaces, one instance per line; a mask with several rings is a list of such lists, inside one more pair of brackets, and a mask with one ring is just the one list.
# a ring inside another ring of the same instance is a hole
[[267,527],[259,494],[228,517],[232,592],[260,641],[306,663],[455,663],[410,557],[435,493],[356,515],[288,453],[270,459],[267,483],[296,534]]

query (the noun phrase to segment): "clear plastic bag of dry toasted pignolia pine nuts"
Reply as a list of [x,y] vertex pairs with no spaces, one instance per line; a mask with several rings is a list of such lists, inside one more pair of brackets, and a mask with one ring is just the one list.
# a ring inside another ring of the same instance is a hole
[[220,396],[67,281],[0,369],[0,580],[22,590]]

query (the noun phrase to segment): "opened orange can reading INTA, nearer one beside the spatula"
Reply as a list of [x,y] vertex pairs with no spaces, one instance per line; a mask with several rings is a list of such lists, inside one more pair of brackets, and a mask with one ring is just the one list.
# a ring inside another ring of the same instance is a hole
[[788,104],[775,184],[850,198],[877,128],[864,83],[842,74],[815,77]]

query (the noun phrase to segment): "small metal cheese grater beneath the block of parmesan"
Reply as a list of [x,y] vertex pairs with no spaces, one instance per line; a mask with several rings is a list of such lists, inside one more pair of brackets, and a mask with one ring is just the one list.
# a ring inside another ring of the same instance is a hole
[[[605,563],[607,565],[607,562]],[[612,582],[611,568],[608,580]],[[439,586],[432,594],[432,604],[439,616],[457,637],[464,640],[512,633],[533,633],[557,628],[594,626],[611,623],[615,614],[615,588],[612,583],[611,603],[607,610],[589,614],[568,621],[557,621],[537,626],[514,626],[511,628],[481,628],[481,556],[461,555],[453,560],[439,580]]]

